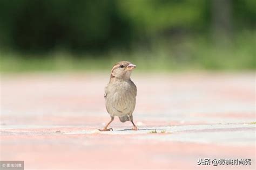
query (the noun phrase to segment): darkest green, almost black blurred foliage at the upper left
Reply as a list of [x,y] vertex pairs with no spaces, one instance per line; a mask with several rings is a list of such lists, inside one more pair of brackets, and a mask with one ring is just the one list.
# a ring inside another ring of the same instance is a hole
[[1,44],[26,51],[101,50],[130,42],[114,1],[0,1]]

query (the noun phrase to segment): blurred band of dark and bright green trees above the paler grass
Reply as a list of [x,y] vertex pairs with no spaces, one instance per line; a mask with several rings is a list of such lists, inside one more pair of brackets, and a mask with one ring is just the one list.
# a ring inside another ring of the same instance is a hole
[[207,36],[212,26],[253,30],[255,8],[254,0],[1,0],[0,48],[104,51],[177,31]]

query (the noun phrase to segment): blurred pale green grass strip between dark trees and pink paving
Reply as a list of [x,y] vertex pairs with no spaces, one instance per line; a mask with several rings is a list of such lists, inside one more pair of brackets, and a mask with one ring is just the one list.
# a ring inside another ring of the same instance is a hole
[[[159,39],[151,48],[136,46],[132,51],[113,50],[104,54],[72,54],[56,51],[46,54],[0,51],[1,72],[101,71],[113,63],[129,60],[136,72],[175,70],[253,70],[255,69],[256,32],[241,32],[232,41],[214,43],[204,36],[176,40]],[[149,69],[150,68],[150,69]]]

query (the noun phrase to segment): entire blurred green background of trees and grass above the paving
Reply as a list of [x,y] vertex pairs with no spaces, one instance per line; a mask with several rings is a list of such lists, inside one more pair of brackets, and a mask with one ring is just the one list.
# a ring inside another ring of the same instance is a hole
[[1,72],[254,70],[255,0],[1,0]]

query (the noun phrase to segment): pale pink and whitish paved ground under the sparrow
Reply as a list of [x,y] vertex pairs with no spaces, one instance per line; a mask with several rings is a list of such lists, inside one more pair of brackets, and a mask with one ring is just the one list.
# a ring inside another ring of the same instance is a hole
[[[136,74],[134,122],[99,132],[105,74],[1,77],[1,160],[25,169],[255,169],[254,73]],[[154,133],[157,132],[157,133]],[[197,165],[198,159],[211,165]],[[213,159],[251,165],[213,166]]]

